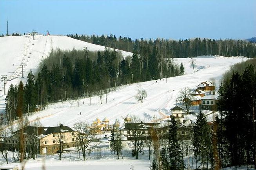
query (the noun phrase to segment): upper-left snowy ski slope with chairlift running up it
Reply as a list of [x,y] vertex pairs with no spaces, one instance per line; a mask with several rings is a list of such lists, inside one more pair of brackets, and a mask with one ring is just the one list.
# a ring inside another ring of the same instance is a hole
[[[0,37],[0,78],[7,75],[5,91],[11,84],[18,84],[20,80],[26,82],[29,70],[36,72],[38,64],[46,58],[51,48],[61,50],[83,49],[87,47],[90,51],[103,51],[105,47],[69,38],[67,36],[9,36]],[[130,52],[122,51],[123,57],[132,55]],[[22,78],[22,67],[25,63],[24,77]],[[4,82],[0,82],[0,113],[4,113]]]

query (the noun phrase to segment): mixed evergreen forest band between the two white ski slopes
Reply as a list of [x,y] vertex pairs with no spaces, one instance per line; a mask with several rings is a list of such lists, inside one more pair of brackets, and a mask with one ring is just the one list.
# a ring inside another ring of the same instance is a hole
[[51,102],[80,97],[100,95],[102,104],[102,95],[110,88],[184,74],[183,64],[178,66],[173,62],[169,66],[164,60],[160,66],[158,63],[156,48],[149,52],[147,60],[136,51],[124,59],[120,51],[108,48],[103,52],[90,52],[86,47],[84,50],[53,50],[42,61],[36,75],[28,73],[25,85],[21,81],[10,86],[5,98],[8,120],[43,109]]

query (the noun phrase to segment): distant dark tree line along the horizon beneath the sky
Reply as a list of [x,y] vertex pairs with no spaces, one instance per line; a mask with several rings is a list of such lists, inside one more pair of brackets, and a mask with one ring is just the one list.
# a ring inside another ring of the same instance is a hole
[[89,43],[102,45],[106,47],[116,48],[128,52],[136,50],[138,54],[147,56],[147,51],[153,50],[156,47],[158,50],[165,54],[166,58],[185,58],[195,57],[200,55],[222,55],[229,56],[245,56],[255,57],[256,47],[255,43],[245,40],[234,39],[207,39],[207,38],[194,38],[194,39],[149,39],[145,40],[122,37],[116,38],[113,34],[109,36],[85,36],[78,34],[67,34],[67,36],[86,41]]

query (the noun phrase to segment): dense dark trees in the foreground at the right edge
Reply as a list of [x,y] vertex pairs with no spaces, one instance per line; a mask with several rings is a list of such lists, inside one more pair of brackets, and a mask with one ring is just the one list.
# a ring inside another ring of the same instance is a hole
[[[236,64],[218,90],[218,153],[222,166],[256,168],[256,59]],[[247,65],[247,66],[245,66]],[[243,70],[243,71],[242,71]]]

